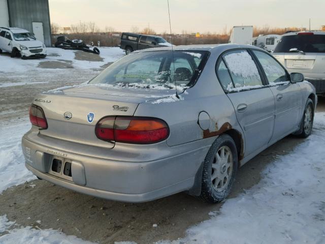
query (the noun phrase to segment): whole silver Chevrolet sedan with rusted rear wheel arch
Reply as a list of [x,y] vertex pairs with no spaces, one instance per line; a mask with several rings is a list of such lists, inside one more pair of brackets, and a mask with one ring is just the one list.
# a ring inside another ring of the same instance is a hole
[[216,203],[258,153],[308,137],[316,103],[302,74],[257,47],[146,49],[37,95],[22,150],[27,169],[73,191],[125,202],[185,191]]

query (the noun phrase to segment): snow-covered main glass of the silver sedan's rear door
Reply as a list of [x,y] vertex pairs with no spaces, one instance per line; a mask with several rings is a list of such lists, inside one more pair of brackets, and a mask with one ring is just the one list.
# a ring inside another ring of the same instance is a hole
[[223,59],[229,69],[235,88],[249,89],[263,85],[255,62],[246,50],[227,52],[223,55]]

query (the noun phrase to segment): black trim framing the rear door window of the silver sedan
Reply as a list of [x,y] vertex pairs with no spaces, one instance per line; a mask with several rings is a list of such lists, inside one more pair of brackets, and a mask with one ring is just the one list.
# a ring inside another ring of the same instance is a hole
[[[263,73],[264,70],[262,70],[260,64],[257,63],[258,60],[257,60],[256,57],[253,55],[253,53],[251,52],[251,49],[252,49],[252,48],[233,48],[233,49],[225,50],[224,52],[222,52],[222,53],[219,55],[219,57],[218,57],[218,59],[217,59],[217,62],[216,62],[216,64],[215,64],[214,72],[215,72],[215,74],[216,74],[216,76],[217,76],[217,79],[218,79],[218,82],[219,82],[219,84],[220,84],[220,86],[221,86],[221,88],[223,89],[223,92],[224,92],[225,94],[241,93],[241,92],[247,92],[248,90],[263,89],[263,88],[269,87],[269,83],[266,82],[265,77],[264,77],[264,73]],[[232,92],[230,92],[229,90],[225,90],[225,89],[223,88],[223,85],[221,84],[221,81],[220,81],[220,78],[219,78],[219,75],[218,75],[218,72],[217,72],[217,68],[219,68],[219,65],[220,65],[220,63],[221,63],[220,60],[223,61],[225,67],[227,68],[228,73],[229,73],[229,75],[230,75],[230,78],[232,79],[233,86],[235,87],[233,77],[232,77],[231,73],[229,72],[228,65],[226,64],[226,62],[225,62],[223,56],[224,56],[226,53],[228,53],[228,52],[233,52],[233,51],[238,51],[238,50],[245,50],[245,51],[247,51],[248,54],[249,54],[249,55],[251,56],[251,58],[253,59],[253,62],[254,62],[254,64],[255,64],[256,68],[257,68],[258,74],[259,74],[259,76],[261,77],[262,87],[242,89],[242,90],[240,90],[240,92],[237,92],[237,91],[235,91],[235,90],[232,91]],[[257,50],[257,49],[254,49],[254,50]]]

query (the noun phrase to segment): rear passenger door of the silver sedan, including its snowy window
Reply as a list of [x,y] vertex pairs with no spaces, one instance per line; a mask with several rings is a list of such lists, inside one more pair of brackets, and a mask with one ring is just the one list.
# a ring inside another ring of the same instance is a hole
[[274,97],[262,81],[262,73],[248,50],[236,49],[222,55],[217,75],[231,100],[245,135],[245,156],[266,146],[274,126]]

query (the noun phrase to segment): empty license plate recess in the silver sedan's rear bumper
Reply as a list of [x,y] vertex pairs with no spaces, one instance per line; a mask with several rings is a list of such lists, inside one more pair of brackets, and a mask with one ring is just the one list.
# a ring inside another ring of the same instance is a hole
[[52,156],[49,174],[73,181],[71,171],[71,160]]

